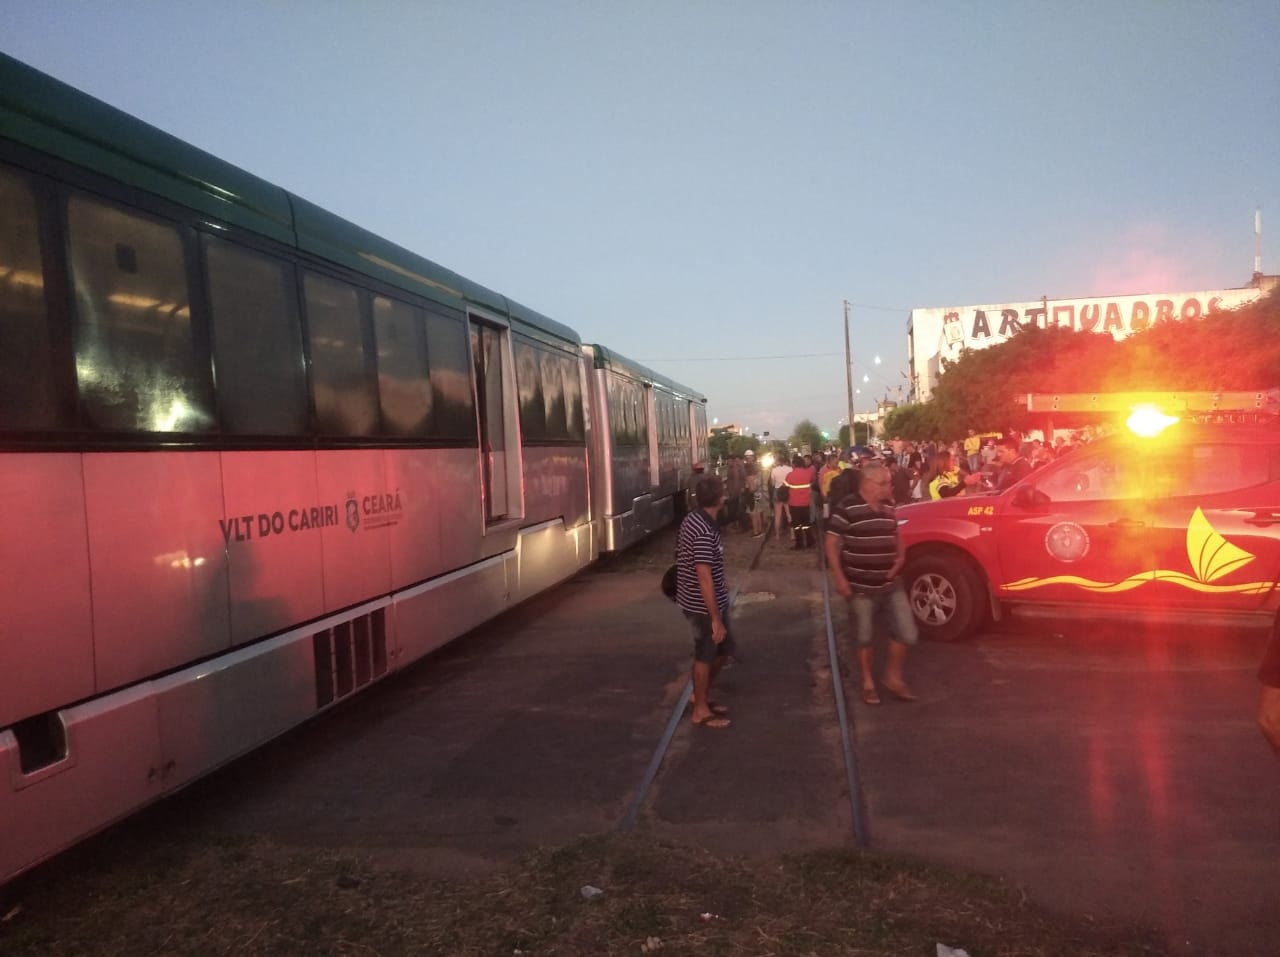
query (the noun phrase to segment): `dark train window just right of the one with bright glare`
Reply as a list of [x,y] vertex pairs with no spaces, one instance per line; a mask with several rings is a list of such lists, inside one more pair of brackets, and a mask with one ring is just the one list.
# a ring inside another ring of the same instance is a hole
[[307,380],[293,267],[205,237],[214,368],[223,429],[236,435],[303,435]]

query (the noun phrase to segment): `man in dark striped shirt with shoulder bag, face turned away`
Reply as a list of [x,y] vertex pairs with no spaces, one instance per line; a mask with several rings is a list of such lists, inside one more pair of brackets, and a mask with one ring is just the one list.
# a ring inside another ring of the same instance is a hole
[[717,517],[724,508],[724,485],[704,475],[694,486],[698,508],[685,516],[676,539],[676,604],[694,629],[694,724],[727,728],[728,709],[710,700],[712,683],[733,654],[724,583],[724,544]]

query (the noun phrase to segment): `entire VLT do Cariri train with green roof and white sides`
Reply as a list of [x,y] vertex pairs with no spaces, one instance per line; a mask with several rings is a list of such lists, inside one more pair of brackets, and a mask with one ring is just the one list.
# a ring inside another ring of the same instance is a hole
[[623,498],[704,455],[701,397],[4,55],[0,345],[0,882],[655,527],[614,406]]

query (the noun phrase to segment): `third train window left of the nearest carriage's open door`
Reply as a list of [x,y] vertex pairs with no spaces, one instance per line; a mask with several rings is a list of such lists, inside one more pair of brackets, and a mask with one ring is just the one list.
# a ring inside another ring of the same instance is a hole
[[316,421],[325,435],[372,435],[378,429],[361,293],[347,283],[307,273],[303,279],[307,334],[311,340],[311,388]]

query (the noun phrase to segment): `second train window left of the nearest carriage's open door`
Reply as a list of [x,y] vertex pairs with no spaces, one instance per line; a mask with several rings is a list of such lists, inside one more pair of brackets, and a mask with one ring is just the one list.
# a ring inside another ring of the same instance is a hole
[[407,303],[375,296],[374,338],[384,429],[398,436],[426,435],[431,423],[426,315]]

